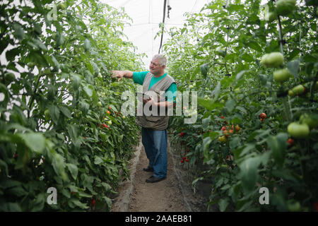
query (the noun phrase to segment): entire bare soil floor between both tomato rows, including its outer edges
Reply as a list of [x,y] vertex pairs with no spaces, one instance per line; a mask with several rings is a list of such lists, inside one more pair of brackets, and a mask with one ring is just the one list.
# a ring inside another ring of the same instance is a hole
[[[112,212],[206,212],[209,184],[201,183],[199,190],[207,192],[194,194],[193,178],[189,170],[179,161],[179,148],[167,143],[167,178],[157,183],[146,183],[152,172],[145,172],[148,159],[141,144],[134,149],[135,156],[129,162],[131,179],[123,181],[113,198]],[[216,211],[211,208],[209,211]]]

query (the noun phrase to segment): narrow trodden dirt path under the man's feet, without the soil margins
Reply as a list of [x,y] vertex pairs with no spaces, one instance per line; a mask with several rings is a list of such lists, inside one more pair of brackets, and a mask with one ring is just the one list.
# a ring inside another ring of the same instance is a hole
[[131,212],[186,212],[184,200],[173,171],[172,157],[167,152],[167,179],[157,183],[146,183],[152,172],[143,171],[148,159],[142,147],[136,166],[134,190],[131,194],[129,211]]

